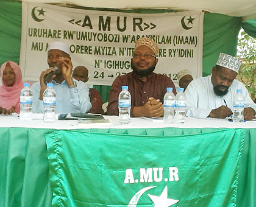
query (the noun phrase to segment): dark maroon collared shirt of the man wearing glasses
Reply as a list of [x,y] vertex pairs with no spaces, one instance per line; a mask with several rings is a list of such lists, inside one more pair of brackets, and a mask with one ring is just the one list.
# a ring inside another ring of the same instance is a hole
[[148,101],[149,97],[160,99],[160,102],[163,103],[163,96],[165,96],[167,87],[172,87],[173,93],[176,94],[174,83],[166,75],[153,72],[144,83],[135,72],[129,72],[126,75],[117,77],[112,83],[108,95],[108,115],[118,116],[118,96],[123,85],[128,86],[128,91],[132,97],[131,116],[133,108],[142,107]]

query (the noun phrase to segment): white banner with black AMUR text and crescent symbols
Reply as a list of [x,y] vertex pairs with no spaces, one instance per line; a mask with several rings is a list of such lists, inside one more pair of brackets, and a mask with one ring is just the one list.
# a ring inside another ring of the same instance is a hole
[[118,75],[132,71],[135,41],[152,38],[159,46],[156,73],[177,85],[177,72],[190,69],[202,75],[204,12],[127,13],[74,9],[24,3],[20,66],[23,79],[38,81],[47,64],[48,44],[69,44],[73,68],[89,71],[89,84],[111,85]]

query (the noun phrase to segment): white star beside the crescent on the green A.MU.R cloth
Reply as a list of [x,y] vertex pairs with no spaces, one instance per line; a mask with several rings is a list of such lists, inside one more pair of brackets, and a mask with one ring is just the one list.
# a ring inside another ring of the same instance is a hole
[[171,205],[174,205],[175,203],[179,202],[179,200],[174,200],[168,198],[168,189],[167,186],[165,186],[165,189],[163,189],[163,192],[160,196],[157,195],[149,195],[149,198],[151,198],[152,202],[154,202],[154,207],[169,207]]

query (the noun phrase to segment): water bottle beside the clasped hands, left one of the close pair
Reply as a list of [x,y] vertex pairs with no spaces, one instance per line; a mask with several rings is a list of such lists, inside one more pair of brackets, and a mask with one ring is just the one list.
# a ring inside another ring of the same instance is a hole
[[163,97],[163,121],[174,123],[175,96],[172,93],[172,88],[166,88],[166,91]]

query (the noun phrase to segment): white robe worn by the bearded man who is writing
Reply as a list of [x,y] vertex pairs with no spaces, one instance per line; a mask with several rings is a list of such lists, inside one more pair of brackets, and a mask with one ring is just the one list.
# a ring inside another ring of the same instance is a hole
[[[186,116],[205,119],[210,112],[219,108],[222,105],[226,105],[233,112],[233,99],[236,94],[236,89],[242,89],[244,97],[244,108],[254,108],[256,111],[256,105],[252,101],[246,87],[238,80],[233,80],[232,85],[229,87],[225,96],[217,96],[213,91],[212,75],[207,77],[200,77],[193,80],[188,88],[185,90],[187,101],[187,113]],[[224,103],[224,99],[226,103]]]

